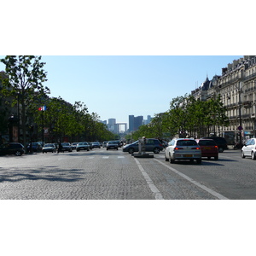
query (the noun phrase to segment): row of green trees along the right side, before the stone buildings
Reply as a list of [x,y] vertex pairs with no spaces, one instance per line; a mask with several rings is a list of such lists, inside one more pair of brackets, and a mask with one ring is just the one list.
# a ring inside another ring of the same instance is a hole
[[207,137],[217,135],[219,127],[228,126],[220,96],[206,102],[194,96],[178,96],[170,102],[165,113],[155,114],[149,125],[142,125],[127,139],[137,137]]

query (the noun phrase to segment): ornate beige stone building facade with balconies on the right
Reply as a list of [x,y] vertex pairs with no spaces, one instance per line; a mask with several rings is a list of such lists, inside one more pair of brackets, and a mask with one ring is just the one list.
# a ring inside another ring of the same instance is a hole
[[256,130],[256,56],[244,55],[222,68],[220,76],[208,78],[201,87],[192,90],[195,99],[207,101],[218,95],[230,120],[228,127],[218,127],[218,136],[227,137],[234,143],[255,137]]

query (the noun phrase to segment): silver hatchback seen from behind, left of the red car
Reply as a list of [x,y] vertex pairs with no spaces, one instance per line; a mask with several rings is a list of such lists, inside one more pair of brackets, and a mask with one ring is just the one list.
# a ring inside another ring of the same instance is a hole
[[201,164],[201,148],[194,139],[174,138],[165,150],[166,161],[171,164],[175,160],[196,160]]

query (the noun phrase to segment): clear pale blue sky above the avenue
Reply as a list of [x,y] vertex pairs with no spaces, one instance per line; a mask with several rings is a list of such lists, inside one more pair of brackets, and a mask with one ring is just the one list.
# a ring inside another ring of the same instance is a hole
[[[3,57],[3,56],[2,56]],[[50,96],[84,102],[102,120],[154,116],[242,55],[43,55]],[[0,64],[0,70],[3,70]]]

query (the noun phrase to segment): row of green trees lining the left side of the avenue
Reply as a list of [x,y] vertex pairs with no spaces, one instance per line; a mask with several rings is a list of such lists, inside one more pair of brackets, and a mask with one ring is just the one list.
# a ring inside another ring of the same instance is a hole
[[[61,96],[48,96],[50,90],[44,86],[47,72],[41,58],[34,55],[8,55],[0,60],[5,65],[6,75],[1,81],[0,96],[2,101],[10,99],[12,107],[17,106],[22,143],[26,145],[32,132],[42,134],[41,138],[44,139],[45,127],[49,139],[55,142],[64,137],[73,141],[114,139],[107,126],[99,122],[99,116],[89,113],[83,102],[71,104]],[[40,106],[47,106],[47,110],[38,111]]]

